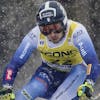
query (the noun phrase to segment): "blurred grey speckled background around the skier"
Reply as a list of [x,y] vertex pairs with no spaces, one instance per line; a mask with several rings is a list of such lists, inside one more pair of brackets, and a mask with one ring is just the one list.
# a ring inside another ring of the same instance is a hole
[[[35,26],[38,7],[45,1],[48,0],[0,0],[0,81],[4,67],[21,40]],[[65,7],[69,19],[87,28],[100,61],[100,0],[57,1]],[[40,63],[40,55],[35,51],[18,73],[14,87],[19,89],[27,83]],[[99,84],[98,79],[95,94],[100,92]]]

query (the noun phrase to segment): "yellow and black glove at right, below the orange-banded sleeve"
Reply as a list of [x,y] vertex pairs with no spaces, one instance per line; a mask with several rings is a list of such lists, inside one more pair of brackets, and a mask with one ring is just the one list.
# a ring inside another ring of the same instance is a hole
[[93,81],[90,80],[86,81],[84,84],[79,86],[77,95],[81,100],[86,100],[86,98],[91,98],[92,93],[94,92],[93,89]]

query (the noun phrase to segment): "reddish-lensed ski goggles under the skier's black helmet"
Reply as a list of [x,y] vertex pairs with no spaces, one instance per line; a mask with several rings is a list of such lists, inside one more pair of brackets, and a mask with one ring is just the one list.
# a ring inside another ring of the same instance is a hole
[[51,34],[51,32],[53,32],[55,34],[59,34],[60,32],[62,32],[64,30],[63,25],[61,23],[54,23],[54,24],[50,24],[50,25],[42,25],[42,26],[39,26],[39,27],[40,27],[40,31],[45,36]]

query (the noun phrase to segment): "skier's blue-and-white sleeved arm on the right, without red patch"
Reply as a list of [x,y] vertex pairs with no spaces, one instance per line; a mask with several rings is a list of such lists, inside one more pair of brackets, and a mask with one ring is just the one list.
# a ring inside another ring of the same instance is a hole
[[95,82],[99,73],[98,58],[91,38],[83,25],[80,24],[79,28],[75,30],[73,42],[79,49],[86,64],[92,65],[90,75],[87,75],[87,79],[92,79]]

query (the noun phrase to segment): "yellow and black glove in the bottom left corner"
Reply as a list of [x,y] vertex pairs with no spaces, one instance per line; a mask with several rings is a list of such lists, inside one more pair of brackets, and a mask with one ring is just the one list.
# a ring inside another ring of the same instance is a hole
[[15,100],[15,94],[12,89],[0,89],[0,100]]

